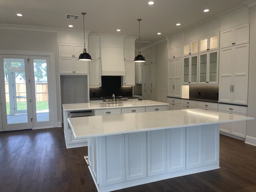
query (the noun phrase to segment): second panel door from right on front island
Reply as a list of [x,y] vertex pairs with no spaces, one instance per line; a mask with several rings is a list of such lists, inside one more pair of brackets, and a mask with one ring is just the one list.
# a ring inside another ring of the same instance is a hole
[[186,128],[186,169],[203,165],[203,128]]

